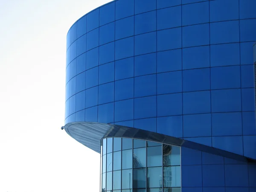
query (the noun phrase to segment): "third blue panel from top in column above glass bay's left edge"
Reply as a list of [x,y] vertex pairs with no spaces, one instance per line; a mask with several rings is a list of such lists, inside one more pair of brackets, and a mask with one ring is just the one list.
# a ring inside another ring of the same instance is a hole
[[115,60],[115,43],[105,44],[99,47],[99,64],[105,64]]

